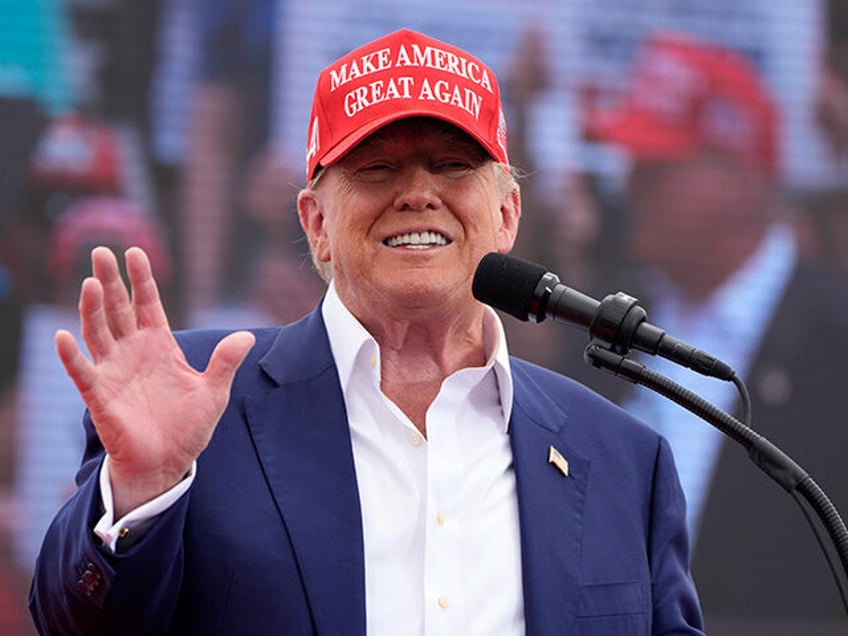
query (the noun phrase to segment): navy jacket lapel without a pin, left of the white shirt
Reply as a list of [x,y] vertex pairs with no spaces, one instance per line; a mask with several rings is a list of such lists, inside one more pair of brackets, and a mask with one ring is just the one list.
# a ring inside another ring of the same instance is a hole
[[294,546],[316,631],[364,635],[359,494],[320,312],[284,329],[260,365],[275,386],[247,401],[247,419]]

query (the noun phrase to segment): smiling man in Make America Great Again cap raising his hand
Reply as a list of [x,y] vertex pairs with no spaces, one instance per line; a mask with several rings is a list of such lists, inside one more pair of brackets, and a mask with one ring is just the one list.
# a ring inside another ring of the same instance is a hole
[[94,362],[57,335],[89,448],[39,629],[700,633],[666,443],[510,359],[471,295],[520,216],[491,70],[384,36],[321,74],[308,139],[298,211],[332,282],[300,322],[175,340],[143,252],[130,301],[94,250]]

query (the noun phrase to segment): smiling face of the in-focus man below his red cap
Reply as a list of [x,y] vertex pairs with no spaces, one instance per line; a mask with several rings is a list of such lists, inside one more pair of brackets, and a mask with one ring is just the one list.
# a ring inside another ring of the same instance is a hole
[[354,310],[458,310],[480,259],[518,229],[517,188],[469,136],[405,119],[326,169],[298,201],[318,259]]

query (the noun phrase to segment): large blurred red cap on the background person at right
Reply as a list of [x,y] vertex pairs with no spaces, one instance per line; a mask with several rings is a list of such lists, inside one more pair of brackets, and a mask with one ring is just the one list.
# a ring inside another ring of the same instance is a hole
[[620,108],[589,110],[590,139],[636,159],[676,159],[701,148],[729,152],[774,174],[777,107],[739,53],[676,33],[649,38]]

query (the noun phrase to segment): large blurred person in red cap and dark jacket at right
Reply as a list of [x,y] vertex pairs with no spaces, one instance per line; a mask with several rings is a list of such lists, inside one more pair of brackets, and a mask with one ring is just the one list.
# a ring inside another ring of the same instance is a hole
[[[750,387],[754,428],[844,511],[846,294],[798,257],[783,218],[778,117],[741,55],[661,33],[648,39],[619,107],[589,113],[586,124],[632,159],[632,256],[643,284],[634,293],[649,319],[730,364]],[[730,383],[646,362],[738,408]],[[761,621],[768,633],[808,634],[843,616],[803,515],[741,447],[647,389],[618,399],[672,445],[708,633]]]

